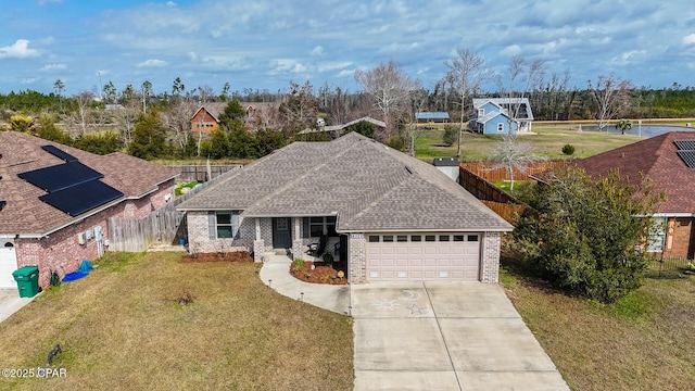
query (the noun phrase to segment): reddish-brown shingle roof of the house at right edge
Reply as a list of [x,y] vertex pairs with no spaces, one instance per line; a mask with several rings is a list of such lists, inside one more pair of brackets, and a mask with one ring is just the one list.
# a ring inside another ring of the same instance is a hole
[[658,191],[666,191],[667,201],[660,213],[695,213],[695,169],[679,157],[675,140],[695,140],[694,131],[671,131],[643,141],[617,148],[577,163],[593,177],[605,176],[611,169],[639,182],[641,174],[652,179]]

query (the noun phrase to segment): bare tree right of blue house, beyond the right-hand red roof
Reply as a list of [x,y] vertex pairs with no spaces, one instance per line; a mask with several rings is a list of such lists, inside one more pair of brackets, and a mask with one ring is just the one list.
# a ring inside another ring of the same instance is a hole
[[595,87],[589,80],[589,91],[596,104],[594,119],[598,124],[599,131],[608,125],[608,121],[628,110],[632,88],[632,83],[614,75],[598,76]]

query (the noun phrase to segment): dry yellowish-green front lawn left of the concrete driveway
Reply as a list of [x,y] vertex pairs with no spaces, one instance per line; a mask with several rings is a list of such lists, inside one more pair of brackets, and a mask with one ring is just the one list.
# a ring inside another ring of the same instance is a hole
[[[67,378],[0,378],[0,389],[353,388],[350,317],[276,293],[253,263],[180,258],[106,253],[1,323],[2,367],[45,367],[60,343],[53,364]],[[184,293],[191,304],[178,304]]]

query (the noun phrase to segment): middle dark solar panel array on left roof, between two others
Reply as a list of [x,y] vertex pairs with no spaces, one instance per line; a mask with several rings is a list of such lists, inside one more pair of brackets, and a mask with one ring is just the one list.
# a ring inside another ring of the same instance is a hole
[[103,174],[79,162],[39,168],[18,174],[17,176],[48,192],[59,191],[89,180],[103,178]]

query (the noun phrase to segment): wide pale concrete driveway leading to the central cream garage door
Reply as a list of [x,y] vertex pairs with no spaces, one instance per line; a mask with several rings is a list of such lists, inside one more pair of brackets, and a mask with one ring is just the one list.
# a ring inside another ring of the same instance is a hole
[[355,390],[569,390],[496,283],[352,286]]

